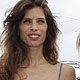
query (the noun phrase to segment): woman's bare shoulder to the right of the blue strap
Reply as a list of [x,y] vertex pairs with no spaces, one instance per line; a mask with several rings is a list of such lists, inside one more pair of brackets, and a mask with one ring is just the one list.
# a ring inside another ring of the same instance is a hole
[[63,64],[61,80],[76,80],[75,70],[72,66]]

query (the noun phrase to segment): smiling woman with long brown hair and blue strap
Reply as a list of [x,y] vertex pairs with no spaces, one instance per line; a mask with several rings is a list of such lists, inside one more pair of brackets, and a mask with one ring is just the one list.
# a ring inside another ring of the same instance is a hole
[[58,62],[59,29],[46,0],[20,0],[4,20],[0,80],[76,80]]

